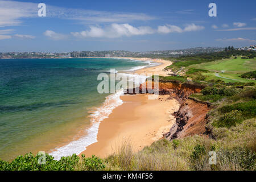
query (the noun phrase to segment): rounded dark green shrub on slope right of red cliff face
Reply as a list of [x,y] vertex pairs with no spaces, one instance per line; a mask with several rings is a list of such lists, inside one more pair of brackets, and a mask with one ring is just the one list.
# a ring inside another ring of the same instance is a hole
[[229,113],[225,113],[220,119],[217,121],[217,127],[231,127],[236,126],[237,123],[241,123],[243,120],[242,118],[242,111],[239,110],[232,110]]

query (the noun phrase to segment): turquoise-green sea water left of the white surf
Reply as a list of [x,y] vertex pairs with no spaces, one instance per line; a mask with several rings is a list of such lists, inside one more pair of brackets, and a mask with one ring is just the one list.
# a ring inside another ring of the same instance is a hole
[[0,60],[0,158],[46,152],[86,135],[107,94],[98,74],[147,63],[125,59]]

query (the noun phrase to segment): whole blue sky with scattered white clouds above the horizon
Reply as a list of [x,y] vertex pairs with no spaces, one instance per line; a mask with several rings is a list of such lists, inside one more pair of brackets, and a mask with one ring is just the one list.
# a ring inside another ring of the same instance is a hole
[[[209,3],[217,16],[210,17]],[[46,17],[38,4],[46,4]],[[0,52],[152,51],[256,44],[256,1],[2,1]]]

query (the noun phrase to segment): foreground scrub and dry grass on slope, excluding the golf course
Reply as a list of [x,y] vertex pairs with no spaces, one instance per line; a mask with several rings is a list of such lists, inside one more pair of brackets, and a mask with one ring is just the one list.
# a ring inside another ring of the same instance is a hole
[[[239,91],[238,91],[239,90]],[[123,143],[119,151],[105,159],[77,155],[38,164],[41,155],[18,156],[12,162],[0,160],[0,170],[256,170],[256,89],[238,89],[218,84],[191,97],[212,101],[208,113],[209,137],[194,135],[172,141],[161,139],[133,152]],[[217,164],[209,164],[209,151],[217,154]]]

